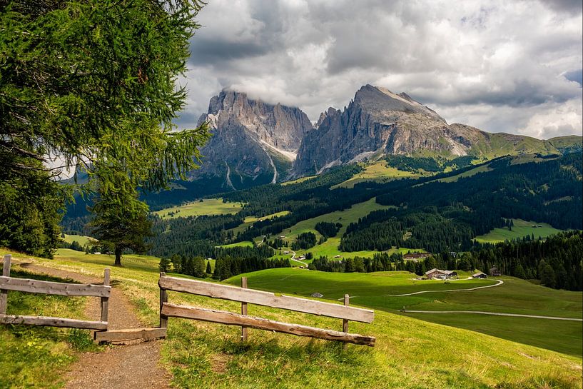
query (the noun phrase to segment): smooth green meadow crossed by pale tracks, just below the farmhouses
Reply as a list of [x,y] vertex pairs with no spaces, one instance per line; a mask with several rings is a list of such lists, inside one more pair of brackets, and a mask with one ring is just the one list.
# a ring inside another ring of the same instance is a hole
[[[460,278],[469,273],[460,273]],[[376,310],[398,313],[407,310],[482,310],[522,315],[547,315],[582,318],[582,293],[556,291],[517,278],[502,277],[501,286],[477,291],[440,292],[469,289],[497,283],[492,279],[459,281],[417,281],[407,272],[325,273],[300,269],[270,269],[229,278],[240,285],[248,277],[250,288],[310,296],[318,292],[324,298],[338,300],[345,293],[355,296],[351,303]],[[434,291],[408,296],[390,296],[417,291]],[[407,316],[475,330],[499,338],[537,345],[571,355],[583,354],[583,323],[537,318],[513,318],[478,314],[405,313]]]

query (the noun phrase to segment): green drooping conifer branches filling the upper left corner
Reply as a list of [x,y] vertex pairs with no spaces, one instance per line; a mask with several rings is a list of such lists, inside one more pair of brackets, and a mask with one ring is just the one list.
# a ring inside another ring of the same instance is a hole
[[88,173],[86,190],[98,178],[118,204],[123,190],[166,188],[196,168],[206,123],[176,132],[172,121],[185,105],[176,79],[200,9],[196,0],[5,2],[0,192],[11,186],[2,203],[23,204],[1,211],[2,244],[43,256],[56,248],[65,196],[46,167],[54,156]]

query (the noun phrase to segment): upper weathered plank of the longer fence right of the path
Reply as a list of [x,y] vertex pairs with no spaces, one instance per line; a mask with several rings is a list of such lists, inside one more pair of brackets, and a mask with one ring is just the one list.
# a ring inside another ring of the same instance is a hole
[[212,298],[240,301],[257,305],[266,305],[273,308],[283,308],[315,315],[329,316],[347,320],[370,323],[375,318],[375,313],[370,309],[345,307],[333,303],[308,300],[287,295],[276,296],[270,292],[243,289],[236,286],[228,286],[218,283],[188,280],[186,278],[161,276],[158,281],[161,288],[177,292],[206,295]]

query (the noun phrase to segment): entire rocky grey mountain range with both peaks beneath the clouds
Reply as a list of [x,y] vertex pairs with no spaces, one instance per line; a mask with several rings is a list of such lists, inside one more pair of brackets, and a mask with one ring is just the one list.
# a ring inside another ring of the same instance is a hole
[[580,136],[539,140],[448,124],[405,93],[365,85],[340,111],[328,108],[313,125],[300,108],[252,99],[224,89],[211,98],[213,137],[201,149],[201,169],[191,181],[212,181],[216,191],[320,174],[345,163],[387,155],[495,158],[521,153],[563,153],[581,148]]

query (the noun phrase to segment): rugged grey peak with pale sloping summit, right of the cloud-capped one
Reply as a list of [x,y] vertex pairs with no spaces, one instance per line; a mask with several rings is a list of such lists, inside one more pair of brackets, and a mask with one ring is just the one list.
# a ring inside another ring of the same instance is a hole
[[463,156],[485,137],[477,128],[448,125],[407,94],[366,85],[344,111],[328,108],[320,115],[318,129],[304,138],[294,168],[298,174],[319,173],[382,154]]

